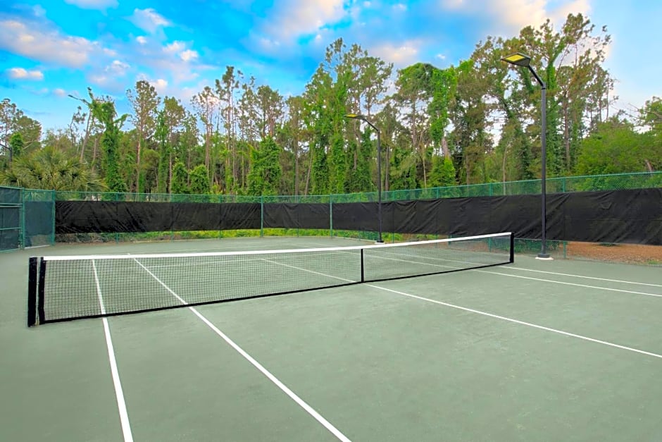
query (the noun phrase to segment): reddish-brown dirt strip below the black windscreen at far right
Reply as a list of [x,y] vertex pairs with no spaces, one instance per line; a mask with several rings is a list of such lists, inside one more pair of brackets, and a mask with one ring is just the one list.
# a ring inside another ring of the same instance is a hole
[[568,243],[567,257],[662,266],[662,246],[639,244]]

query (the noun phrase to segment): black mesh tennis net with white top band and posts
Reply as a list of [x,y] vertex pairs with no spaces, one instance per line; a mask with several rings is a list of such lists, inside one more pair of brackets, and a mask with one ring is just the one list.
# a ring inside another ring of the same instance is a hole
[[326,247],[31,257],[28,326],[513,262],[513,235]]

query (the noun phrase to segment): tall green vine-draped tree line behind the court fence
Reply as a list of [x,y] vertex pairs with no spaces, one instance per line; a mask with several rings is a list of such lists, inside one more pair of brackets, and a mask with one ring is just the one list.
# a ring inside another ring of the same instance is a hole
[[[0,103],[0,183],[115,192],[323,195],[539,178],[540,89],[501,59],[523,52],[547,83],[548,176],[662,168],[662,100],[613,112],[611,37],[581,14],[487,37],[458,66],[394,71],[358,44],[326,48],[304,92],[284,97],[227,66],[182,103],[149,82],[131,111],[88,88],[66,128]],[[345,118],[361,113],[374,130]],[[128,129],[128,127],[131,127]]]

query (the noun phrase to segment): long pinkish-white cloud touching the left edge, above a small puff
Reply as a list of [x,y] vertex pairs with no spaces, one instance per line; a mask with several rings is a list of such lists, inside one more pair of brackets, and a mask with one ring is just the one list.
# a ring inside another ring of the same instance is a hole
[[0,49],[71,68],[85,65],[96,49],[96,44],[86,38],[61,35],[42,28],[18,20],[0,20]]

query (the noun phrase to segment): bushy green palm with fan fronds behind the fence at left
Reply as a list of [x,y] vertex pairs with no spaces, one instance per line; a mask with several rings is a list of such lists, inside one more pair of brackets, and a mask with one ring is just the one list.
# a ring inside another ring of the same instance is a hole
[[0,184],[20,188],[94,192],[106,185],[76,156],[47,146],[20,156],[0,172]]

